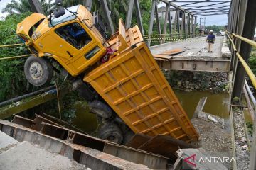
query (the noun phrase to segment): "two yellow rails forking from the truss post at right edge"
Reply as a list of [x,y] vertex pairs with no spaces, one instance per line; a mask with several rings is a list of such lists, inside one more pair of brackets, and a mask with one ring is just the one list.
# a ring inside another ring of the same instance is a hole
[[[226,35],[228,35],[228,34],[226,34]],[[243,40],[243,41],[245,41],[245,42],[247,42],[247,43],[249,43],[250,41],[252,41],[252,40],[249,41],[249,39],[243,38],[243,37],[241,37],[241,36],[239,36],[239,35],[235,35],[235,34],[233,34],[233,33],[232,33],[231,35],[235,36],[236,38],[240,38],[240,40]],[[232,46],[233,46],[233,50],[235,51],[235,55],[238,56],[238,59],[240,60],[242,66],[245,68],[245,71],[247,72],[248,76],[250,77],[250,80],[252,81],[252,85],[253,85],[254,88],[256,89],[256,77],[255,77],[255,74],[252,72],[252,70],[250,69],[250,67],[248,66],[248,64],[245,62],[245,60],[242,58],[242,56],[238,53],[238,50],[236,49],[233,40],[230,38],[230,35],[228,35],[228,39],[230,40],[230,42],[231,42],[231,44],[232,44]],[[253,42],[253,41],[252,41],[252,42]],[[252,43],[252,44],[251,44],[251,42],[250,42],[249,44],[256,47],[256,44],[255,44],[255,43]]]

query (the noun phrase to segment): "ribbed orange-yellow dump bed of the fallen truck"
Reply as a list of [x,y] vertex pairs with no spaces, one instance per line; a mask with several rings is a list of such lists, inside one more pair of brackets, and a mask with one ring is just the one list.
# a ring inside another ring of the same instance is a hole
[[[137,27],[130,29],[138,32]],[[135,133],[170,135],[186,142],[198,140],[196,130],[146,43],[134,45],[134,41],[129,44],[123,41],[133,32],[130,29],[117,34],[117,41],[112,40],[111,46],[115,45],[119,54],[85,75],[84,81]]]

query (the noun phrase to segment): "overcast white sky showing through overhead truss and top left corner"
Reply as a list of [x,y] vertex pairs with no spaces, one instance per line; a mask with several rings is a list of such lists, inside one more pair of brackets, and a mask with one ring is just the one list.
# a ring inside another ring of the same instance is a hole
[[[8,4],[11,0],[0,0],[0,17],[6,16],[6,13],[1,13],[2,9],[6,6],[6,4]],[[193,1],[202,1],[202,0],[193,0]],[[178,3],[175,2],[175,4],[177,5],[183,5],[183,4],[187,4],[187,3]],[[212,8],[209,5],[213,4],[213,3],[200,3],[200,4],[193,4],[193,5],[207,5],[208,7],[202,7],[202,8]],[[141,4],[142,5],[142,4]],[[219,4],[222,5],[222,4]],[[229,3],[227,4],[223,4],[223,5],[229,5]],[[159,4],[159,6],[165,6],[164,3]],[[188,7],[183,7],[183,8],[188,8]],[[191,8],[191,7],[189,7]],[[199,8],[200,9],[200,8]],[[218,9],[216,9],[218,10]],[[197,22],[199,23],[200,18],[206,17],[206,26],[208,25],[226,25],[228,23],[228,16],[227,15],[221,15],[221,16],[199,16],[197,19]]]

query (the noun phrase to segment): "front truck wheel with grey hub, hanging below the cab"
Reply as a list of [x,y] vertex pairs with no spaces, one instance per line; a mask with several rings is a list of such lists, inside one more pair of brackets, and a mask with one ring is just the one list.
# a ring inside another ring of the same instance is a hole
[[24,65],[26,79],[33,86],[42,86],[53,77],[53,66],[41,57],[28,57]]

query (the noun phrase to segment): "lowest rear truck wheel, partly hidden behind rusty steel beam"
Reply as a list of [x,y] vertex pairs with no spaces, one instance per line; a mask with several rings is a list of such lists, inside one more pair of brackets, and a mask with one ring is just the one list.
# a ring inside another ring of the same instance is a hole
[[99,130],[98,135],[102,140],[108,140],[121,144],[123,141],[122,131],[114,123],[104,123]]

